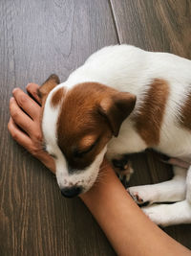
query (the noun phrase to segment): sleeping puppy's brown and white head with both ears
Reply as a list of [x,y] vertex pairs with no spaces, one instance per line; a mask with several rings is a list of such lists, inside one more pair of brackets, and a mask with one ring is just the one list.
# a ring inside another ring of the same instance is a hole
[[[62,194],[72,198],[96,180],[107,143],[132,112],[136,97],[96,82],[67,87],[51,76],[39,89],[46,151]],[[56,86],[57,85],[57,86]]]

